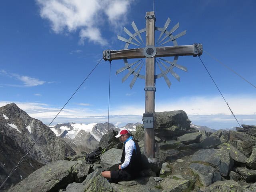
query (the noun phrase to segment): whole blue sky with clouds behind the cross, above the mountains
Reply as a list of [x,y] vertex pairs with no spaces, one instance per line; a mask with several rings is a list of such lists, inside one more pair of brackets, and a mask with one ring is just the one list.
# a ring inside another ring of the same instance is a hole
[[[203,49],[256,84],[256,2],[246,0],[156,0],[156,26],[167,18],[180,27],[178,45],[203,44]],[[144,16],[153,0],[9,0],[0,6],[0,106],[15,102],[30,116],[51,122],[106,49],[119,50],[134,32],[145,28]],[[145,34],[142,34],[144,37]],[[159,33],[156,33],[156,39]],[[166,44],[172,46],[172,44]],[[133,46],[129,46],[132,48]],[[202,61],[240,124],[256,124],[256,89],[204,52]],[[173,58],[165,58],[172,61]],[[132,62],[132,60],[130,60]],[[184,110],[194,124],[210,128],[238,126],[198,57],[183,56],[178,64],[188,72],[174,71],[156,80],[156,111]],[[112,61],[110,122],[122,126],[142,122],[144,80],[132,90],[122,60]],[[141,72],[144,74],[144,71]],[[159,73],[159,72],[158,72]],[[106,122],[108,115],[109,62],[102,61],[53,124]]]

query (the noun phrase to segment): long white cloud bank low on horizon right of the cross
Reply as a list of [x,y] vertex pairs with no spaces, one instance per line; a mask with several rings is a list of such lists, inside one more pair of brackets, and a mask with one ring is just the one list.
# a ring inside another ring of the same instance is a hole
[[[224,95],[234,114],[254,114],[256,97],[250,95]],[[173,101],[158,102],[156,111],[184,110],[190,115],[229,115],[230,110],[221,96],[193,96]]]

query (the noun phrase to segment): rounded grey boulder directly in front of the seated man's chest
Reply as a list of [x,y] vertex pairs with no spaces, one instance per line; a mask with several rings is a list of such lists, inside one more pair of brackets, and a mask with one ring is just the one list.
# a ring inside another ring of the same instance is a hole
[[112,148],[100,156],[100,164],[105,170],[118,170],[121,156],[121,149]]

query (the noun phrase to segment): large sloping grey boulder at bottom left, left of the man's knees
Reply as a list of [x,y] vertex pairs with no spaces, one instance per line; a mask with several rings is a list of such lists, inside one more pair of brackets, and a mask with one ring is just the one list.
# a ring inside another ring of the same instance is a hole
[[[83,168],[81,171],[80,168]],[[81,182],[90,170],[90,165],[76,161],[53,161],[30,174],[8,190],[9,192],[48,192],[65,189],[69,183]]]

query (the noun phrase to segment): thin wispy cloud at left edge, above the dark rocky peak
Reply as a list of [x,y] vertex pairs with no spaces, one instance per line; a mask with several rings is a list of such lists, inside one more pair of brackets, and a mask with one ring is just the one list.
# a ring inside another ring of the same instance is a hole
[[17,80],[20,80],[23,85],[17,85],[17,84],[2,84],[4,86],[13,86],[13,87],[33,87],[33,86],[38,86],[38,85],[42,85],[44,83],[46,83],[46,81],[43,80],[39,80],[37,78],[33,78],[33,77],[29,77],[29,76],[23,76],[23,75],[19,75],[19,74],[15,74],[15,73],[9,73],[5,70],[0,70],[0,74],[1,75],[5,75],[8,76],[9,78],[15,78]]

